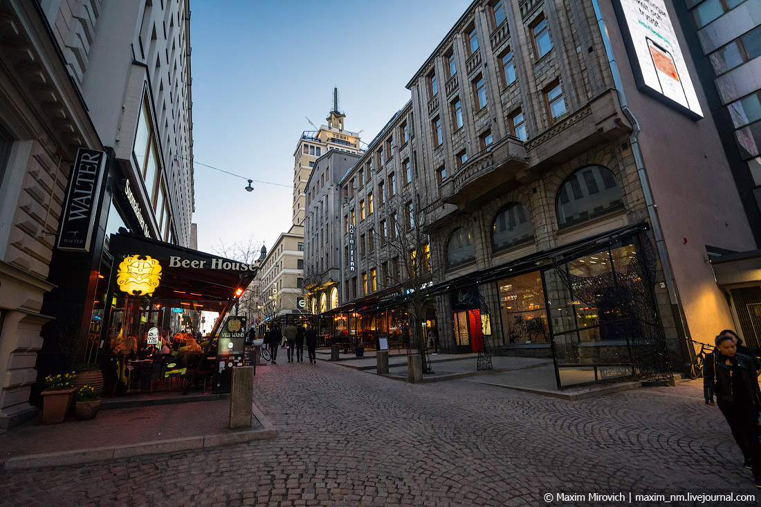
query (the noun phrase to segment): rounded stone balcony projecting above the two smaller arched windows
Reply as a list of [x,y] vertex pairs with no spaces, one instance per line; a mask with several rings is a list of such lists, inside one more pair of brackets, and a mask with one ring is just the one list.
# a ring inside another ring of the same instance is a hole
[[523,183],[529,177],[528,165],[524,143],[507,136],[459,167],[452,175],[451,193],[442,200],[463,206],[510,183]]

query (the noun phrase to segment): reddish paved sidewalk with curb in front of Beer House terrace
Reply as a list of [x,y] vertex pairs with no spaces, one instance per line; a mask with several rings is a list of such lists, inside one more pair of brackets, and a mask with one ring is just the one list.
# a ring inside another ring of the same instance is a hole
[[212,400],[101,409],[89,421],[70,416],[49,426],[41,426],[38,417],[0,432],[0,469],[81,464],[277,436],[256,405],[250,429],[228,429],[229,410],[230,400]]

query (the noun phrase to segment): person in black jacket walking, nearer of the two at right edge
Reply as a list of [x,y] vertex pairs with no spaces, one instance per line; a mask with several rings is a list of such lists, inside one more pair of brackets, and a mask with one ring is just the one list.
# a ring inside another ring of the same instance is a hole
[[705,404],[727,419],[734,441],[743,453],[743,466],[753,470],[753,481],[761,488],[761,444],[756,437],[756,421],[761,391],[750,357],[737,353],[731,336],[716,336],[716,349],[705,355],[703,392]]

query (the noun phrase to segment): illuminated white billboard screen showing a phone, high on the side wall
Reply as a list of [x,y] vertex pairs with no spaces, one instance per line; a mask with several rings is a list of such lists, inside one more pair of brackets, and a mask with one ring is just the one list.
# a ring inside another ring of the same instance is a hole
[[614,0],[637,87],[694,120],[703,117],[664,0]]

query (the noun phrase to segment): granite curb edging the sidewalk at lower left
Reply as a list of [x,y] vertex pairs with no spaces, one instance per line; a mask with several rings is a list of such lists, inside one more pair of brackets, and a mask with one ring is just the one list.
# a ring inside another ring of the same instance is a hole
[[15,456],[0,463],[0,470],[19,470],[24,468],[59,467],[72,464],[107,461],[118,458],[132,458],[147,454],[163,454],[168,452],[188,451],[190,449],[212,448],[220,445],[242,444],[255,440],[272,440],[278,437],[278,431],[272,422],[264,416],[256,404],[252,406],[253,416],[260,422],[262,429],[247,429],[215,435],[199,435],[184,438],[171,438],[154,442],[144,442],[132,445],[115,445],[112,447],[97,447],[77,449],[75,451],[59,451],[41,454]]

